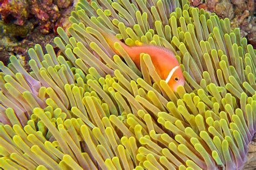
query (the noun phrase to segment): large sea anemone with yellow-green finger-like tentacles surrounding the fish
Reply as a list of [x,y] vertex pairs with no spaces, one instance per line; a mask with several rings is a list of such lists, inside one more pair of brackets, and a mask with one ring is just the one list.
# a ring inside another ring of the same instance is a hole
[[[256,128],[255,49],[230,20],[186,0],[80,0],[70,37],[0,63],[0,167],[4,169],[240,169]],[[172,51],[185,77],[173,92],[150,55]],[[152,81],[153,80],[153,81]]]

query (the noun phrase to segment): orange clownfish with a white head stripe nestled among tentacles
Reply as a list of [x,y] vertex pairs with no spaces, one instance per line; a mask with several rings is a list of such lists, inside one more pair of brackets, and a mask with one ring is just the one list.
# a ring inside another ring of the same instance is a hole
[[109,44],[114,52],[119,55],[118,51],[114,48],[114,43],[118,42],[124,48],[126,53],[130,55],[131,59],[138,68],[140,68],[140,54],[149,54],[151,56],[152,63],[156,68],[156,72],[161,79],[165,80],[165,82],[169,84],[173,91],[176,91],[179,85],[184,86],[185,79],[179,66],[179,62],[169,49],[154,45],[130,47],[117,39],[113,34],[102,34],[106,39],[107,44]]

